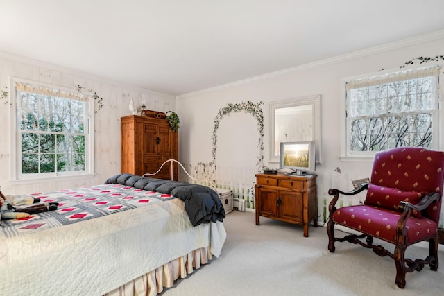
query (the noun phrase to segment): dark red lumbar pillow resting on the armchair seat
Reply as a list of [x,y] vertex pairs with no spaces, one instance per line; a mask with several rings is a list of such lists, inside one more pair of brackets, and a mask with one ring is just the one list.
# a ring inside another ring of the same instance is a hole
[[[427,195],[427,192],[402,191],[396,188],[369,184],[364,204],[400,211],[398,206],[401,201],[417,204],[425,195]],[[411,215],[416,218],[422,217],[421,212],[414,209],[411,210]]]

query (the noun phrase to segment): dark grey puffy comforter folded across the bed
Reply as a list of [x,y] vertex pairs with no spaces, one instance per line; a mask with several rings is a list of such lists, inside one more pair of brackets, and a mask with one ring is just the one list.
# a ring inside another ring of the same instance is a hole
[[185,202],[185,211],[193,226],[222,221],[225,210],[219,195],[210,187],[171,180],[160,180],[127,173],[114,175],[105,184],[122,184],[147,191],[171,194]]

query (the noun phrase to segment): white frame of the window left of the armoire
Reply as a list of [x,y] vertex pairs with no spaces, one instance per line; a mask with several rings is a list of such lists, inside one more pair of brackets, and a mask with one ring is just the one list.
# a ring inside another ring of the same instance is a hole
[[90,96],[87,97],[88,116],[85,119],[87,122],[87,130],[85,130],[85,171],[68,171],[68,172],[53,172],[53,173],[31,173],[22,174],[22,143],[21,133],[19,129],[18,118],[18,102],[16,83],[23,83],[33,85],[36,87],[46,87],[48,89],[57,89],[63,92],[78,93],[74,89],[67,87],[60,87],[59,85],[50,85],[44,82],[27,80],[23,78],[11,78],[11,111],[10,111],[10,126],[11,126],[11,166],[10,166],[10,181],[16,184],[28,184],[34,182],[53,182],[61,180],[76,180],[87,179],[94,177],[94,100]]

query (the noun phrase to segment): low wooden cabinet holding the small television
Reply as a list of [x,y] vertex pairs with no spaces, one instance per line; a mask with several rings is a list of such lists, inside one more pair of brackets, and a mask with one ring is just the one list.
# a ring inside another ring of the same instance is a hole
[[316,175],[287,176],[257,174],[256,176],[256,225],[264,216],[303,225],[308,236],[311,220],[318,226],[316,202]]

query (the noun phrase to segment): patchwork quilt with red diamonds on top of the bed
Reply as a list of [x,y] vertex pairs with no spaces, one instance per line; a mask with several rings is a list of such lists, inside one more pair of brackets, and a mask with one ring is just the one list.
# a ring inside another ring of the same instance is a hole
[[40,202],[58,202],[58,209],[22,219],[2,220],[0,238],[31,234],[175,198],[170,194],[122,184],[33,193],[31,196],[40,198]]

